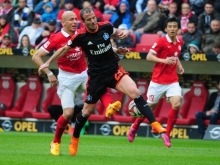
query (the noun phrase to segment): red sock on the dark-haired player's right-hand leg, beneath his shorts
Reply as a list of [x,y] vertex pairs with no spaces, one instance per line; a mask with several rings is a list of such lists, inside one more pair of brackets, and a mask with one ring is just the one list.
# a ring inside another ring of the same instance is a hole
[[170,132],[172,131],[172,129],[176,123],[178,113],[179,113],[179,110],[174,110],[174,109],[170,109],[170,111],[168,113],[168,121],[167,121],[167,127],[166,127],[167,136],[170,136]]

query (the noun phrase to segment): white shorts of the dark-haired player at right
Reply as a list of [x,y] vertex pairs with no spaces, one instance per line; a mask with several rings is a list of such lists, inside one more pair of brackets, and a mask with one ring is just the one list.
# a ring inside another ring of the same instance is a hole
[[166,95],[167,98],[171,96],[182,97],[182,89],[179,82],[172,84],[157,84],[151,81],[147,91],[147,102],[156,104],[164,95]]

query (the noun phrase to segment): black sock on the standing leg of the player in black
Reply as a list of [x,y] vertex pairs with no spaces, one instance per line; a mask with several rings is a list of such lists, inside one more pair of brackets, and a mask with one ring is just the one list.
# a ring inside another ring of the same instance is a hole
[[75,129],[73,132],[73,136],[75,138],[79,138],[80,131],[83,128],[83,126],[85,125],[87,120],[88,120],[88,118],[83,116],[82,111],[80,113],[78,113],[78,115],[76,117]]

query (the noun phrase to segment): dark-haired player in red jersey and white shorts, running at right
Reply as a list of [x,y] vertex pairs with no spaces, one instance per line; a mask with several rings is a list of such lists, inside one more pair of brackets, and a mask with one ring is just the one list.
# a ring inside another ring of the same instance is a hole
[[[177,120],[182,100],[181,87],[176,70],[177,68],[179,69],[179,74],[184,73],[184,69],[179,61],[183,42],[177,38],[178,22],[176,18],[168,18],[165,27],[167,35],[161,37],[153,44],[146,57],[148,61],[156,63],[147,92],[147,102],[151,109],[154,110],[159,99],[165,94],[167,100],[171,103],[172,108],[168,113],[167,131],[165,134],[161,134],[164,145],[171,147],[170,132]],[[131,125],[128,133],[128,140],[130,142],[134,141],[137,129],[143,120],[144,118],[137,118]],[[152,132],[154,133],[154,130]]]

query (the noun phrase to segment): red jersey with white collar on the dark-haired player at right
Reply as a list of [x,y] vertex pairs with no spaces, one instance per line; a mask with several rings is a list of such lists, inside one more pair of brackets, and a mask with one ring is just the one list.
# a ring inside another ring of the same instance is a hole
[[[180,56],[182,45],[182,40],[177,38],[177,42],[174,44],[169,36],[166,35],[159,38],[158,41],[153,44],[150,51],[155,53],[158,58],[178,58]],[[174,65],[156,63],[153,69],[152,81],[158,84],[171,84],[178,82],[177,60]]]

